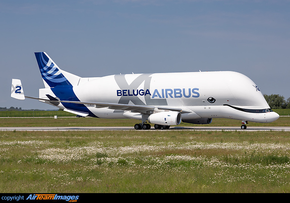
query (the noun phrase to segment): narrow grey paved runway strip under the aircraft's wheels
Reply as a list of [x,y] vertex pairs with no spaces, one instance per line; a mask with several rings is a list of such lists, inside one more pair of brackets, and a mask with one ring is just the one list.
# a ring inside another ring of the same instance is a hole
[[[135,130],[134,127],[130,126],[102,126],[102,127],[95,127],[95,126],[86,126],[86,127],[0,127],[0,131],[85,131],[85,130],[92,130],[92,131],[100,131],[100,130]],[[230,127],[230,126],[174,126],[168,130],[174,131],[290,131],[290,127],[250,127],[247,126],[246,130],[240,129],[238,126]],[[142,130],[145,131],[145,130]],[[156,131],[154,128],[146,131]],[[166,131],[166,130],[158,130],[158,131]]]

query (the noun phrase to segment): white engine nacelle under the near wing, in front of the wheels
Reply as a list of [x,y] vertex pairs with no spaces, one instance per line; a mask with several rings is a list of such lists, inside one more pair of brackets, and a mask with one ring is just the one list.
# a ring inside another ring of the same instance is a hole
[[177,111],[153,113],[148,117],[148,122],[158,125],[179,125],[181,122],[181,113]]

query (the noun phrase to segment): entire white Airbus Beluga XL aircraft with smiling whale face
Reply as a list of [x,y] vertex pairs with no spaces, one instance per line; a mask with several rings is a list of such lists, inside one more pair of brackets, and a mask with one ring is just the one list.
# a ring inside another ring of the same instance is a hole
[[109,75],[82,78],[61,70],[46,52],[36,52],[45,88],[24,96],[12,79],[11,97],[36,99],[64,111],[97,118],[141,120],[135,129],[168,129],[180,122],[209,124],[213,118],[269,123],[279,118],[256,84],[232,71]]

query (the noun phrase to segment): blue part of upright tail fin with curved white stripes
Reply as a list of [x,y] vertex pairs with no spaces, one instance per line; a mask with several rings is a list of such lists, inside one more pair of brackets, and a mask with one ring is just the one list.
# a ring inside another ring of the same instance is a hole
[[36,60],[43,80],[51,87],[71,86],[71,83],[62,74],[58,65],[46,52],[35,52]]

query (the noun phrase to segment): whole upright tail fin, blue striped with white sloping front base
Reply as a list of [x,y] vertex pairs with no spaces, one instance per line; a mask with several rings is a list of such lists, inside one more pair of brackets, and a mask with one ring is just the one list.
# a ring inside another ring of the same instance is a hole
[[56,86],[75,86],[79,76],[61,70],[46,52],[35,52],[35,57],[46,88]]

